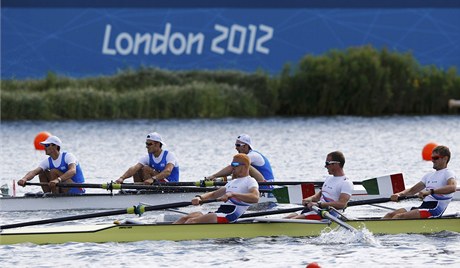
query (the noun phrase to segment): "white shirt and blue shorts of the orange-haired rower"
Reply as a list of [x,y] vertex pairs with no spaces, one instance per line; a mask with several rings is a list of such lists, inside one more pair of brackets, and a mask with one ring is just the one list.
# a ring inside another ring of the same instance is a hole
[[[225,185],[226,193],[234,192],[240,194],[249,193],[252,188],[258,188],[257,181],[246,176],[243,178],[233,179]],[[243,202],[235,197],[230,198],[215,212],[217,215],[217,223],[232,223],[235,222],[251,204]]]

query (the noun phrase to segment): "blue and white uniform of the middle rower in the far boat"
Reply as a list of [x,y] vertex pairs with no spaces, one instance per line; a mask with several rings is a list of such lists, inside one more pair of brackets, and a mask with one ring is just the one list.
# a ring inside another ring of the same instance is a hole
[[155,169],[158,173],[162,172],[166,165],[171,163],[174,165],[171,174],[167,178],[164,178],[166,182],[177,182],[179,181],[179,164],[177,163],[176,156],[174,153],[167,150],[161,151],[161,154],[158,157],[155,157],[153,154],[149,153],[146,156],[142,157],[139,160],[139,163],[144,166],[149,166]]

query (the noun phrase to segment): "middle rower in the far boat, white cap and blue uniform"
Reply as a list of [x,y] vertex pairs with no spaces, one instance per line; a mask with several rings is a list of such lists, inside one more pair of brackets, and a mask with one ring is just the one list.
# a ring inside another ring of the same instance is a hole
[[133,177],[134,182],[153,184],[155,182],[179,181],[179,163],[176,155],[168,150],[163,150],[160,134],[153,132],[147,135],[145,147],[147,154],[139,162],[130,167],[120,176],[116,183],[123,183],[127,178]]

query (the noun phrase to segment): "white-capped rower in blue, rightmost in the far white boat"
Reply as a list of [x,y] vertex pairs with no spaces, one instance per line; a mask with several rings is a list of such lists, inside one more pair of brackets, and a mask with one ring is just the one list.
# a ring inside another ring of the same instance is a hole
[[[238,153],[246,154],[251,160],[249,175],[258,182],[272,182],[275,180],[272,167],[268,159],[260,152],[253,149],[251,137],[247,134],[241,134],[236,138],[235,149]],[[232,167],[226,166],[217,173],[206,177],[207,180],[216,180],[216,178],[226,177],[232,174]],[[272,189],[273,185],[262,185],[259,189]]]

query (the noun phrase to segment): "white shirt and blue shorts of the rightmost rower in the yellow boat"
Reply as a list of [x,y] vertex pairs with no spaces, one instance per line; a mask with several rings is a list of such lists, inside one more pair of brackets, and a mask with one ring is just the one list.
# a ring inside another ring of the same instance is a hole
[[[421,182],[425,184],[426,190],[430,190],[446,186],[447,180],[450,178],[457,179],[453,171],[445,168],[426,174]],[[406,210],[418,209],[420,218],[438,218],[446,211],[453,196],[454,193],[427,195],[419,207],[411,207]]]

